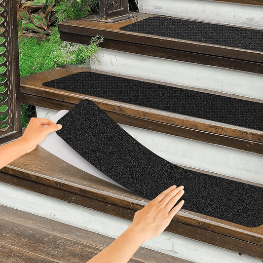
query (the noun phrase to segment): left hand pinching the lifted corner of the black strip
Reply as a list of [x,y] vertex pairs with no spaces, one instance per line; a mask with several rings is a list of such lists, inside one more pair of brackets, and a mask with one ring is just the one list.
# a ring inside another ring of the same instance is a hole
[[[45,125],[48,125],[45,127]],[[45,137],[53,131],[60,130],[61,124],[56,124],[49,119],[31,118],[23,136],[19,138],[27,152],[34,150]]]

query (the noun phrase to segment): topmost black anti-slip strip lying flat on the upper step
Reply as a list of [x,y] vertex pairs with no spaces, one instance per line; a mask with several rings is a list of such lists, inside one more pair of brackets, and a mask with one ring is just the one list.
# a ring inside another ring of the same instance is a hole
[[263,51],[263,30],[153,16],[121,27],[122,31]]

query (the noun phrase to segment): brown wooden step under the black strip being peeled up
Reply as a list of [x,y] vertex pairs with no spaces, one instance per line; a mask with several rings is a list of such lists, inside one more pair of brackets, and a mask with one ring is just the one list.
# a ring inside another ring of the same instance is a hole
[[[47,166],[46,163],[49,165]],[[2,171],[43,185],[63,189],[64,195],[66,192],[73,192],[134,211],[141,209],[148,202],[147,199],[131,191],[77,169],[41,147],[21,156],[3,168]],[[6,179],[6,177],[4,178]],[[3,179],[1,180],[3,181]],[[103,212],[107,213],[108,211],[106,209]],[[119,215],[122,213],[125,212],[120,212]],[[195,229],[205,229],[209,233],[212,231],[263,246],[263,226],[251,228],[236,225],[184,209],[173,220],[192,225]],[[170,231],[177,233],[178,230],[180,229],[176,228]],[[197,237],[199,238],[200,234]]]

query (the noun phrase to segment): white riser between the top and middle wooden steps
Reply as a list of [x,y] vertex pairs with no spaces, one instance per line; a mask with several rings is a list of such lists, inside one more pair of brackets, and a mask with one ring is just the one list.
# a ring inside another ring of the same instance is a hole
[[105,48],[98,51],[96,59],[90,59],[90,66],[94,70],[263,100],[263,75],[256,73]]

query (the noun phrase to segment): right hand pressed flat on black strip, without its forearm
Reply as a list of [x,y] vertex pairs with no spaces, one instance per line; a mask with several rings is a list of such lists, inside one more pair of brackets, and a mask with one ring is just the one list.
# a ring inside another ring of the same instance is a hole
[[182,208],[184,200],[174,205],[184,194],[184,187],[172,186],[152,199],[143,209],[138,210],[129,226],[145,240],[159,235]]

